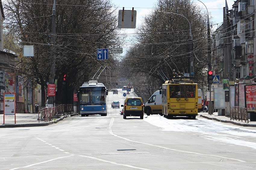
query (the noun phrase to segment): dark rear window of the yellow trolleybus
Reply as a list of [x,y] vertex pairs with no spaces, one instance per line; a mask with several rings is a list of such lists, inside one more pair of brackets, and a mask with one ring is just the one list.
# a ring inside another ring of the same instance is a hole
[[170,98],[195,98],[195,85],[170,85]]

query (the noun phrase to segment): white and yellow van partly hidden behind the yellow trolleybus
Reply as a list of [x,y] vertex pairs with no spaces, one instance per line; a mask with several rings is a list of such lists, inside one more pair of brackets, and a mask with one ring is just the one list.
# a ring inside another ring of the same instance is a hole
[[150,114],[160,114],[162,113],[162,94],[159,93],[159,90],[156,91],[152,96],[148,99],[147,103],[144,107],[144,112],[149,116]]

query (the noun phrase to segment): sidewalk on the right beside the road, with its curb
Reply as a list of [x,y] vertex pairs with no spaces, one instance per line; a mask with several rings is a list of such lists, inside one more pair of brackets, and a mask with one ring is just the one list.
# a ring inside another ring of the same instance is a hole
[[198,113],[198,115],[200,115],[200,117],[203,117],[206,119],[211,119],[211,120],[216,120],[218,122],[232,123],[234,125],[239,125],[239,126],[256,127],[256,122],[249,121],[249,123],[245,123],[244,120],[243,120],[243,122],[241,120],[240,121],[230,120],[230,117],[218,116],[217,112],[214,112],[212,115],[209,115],[208,113]]

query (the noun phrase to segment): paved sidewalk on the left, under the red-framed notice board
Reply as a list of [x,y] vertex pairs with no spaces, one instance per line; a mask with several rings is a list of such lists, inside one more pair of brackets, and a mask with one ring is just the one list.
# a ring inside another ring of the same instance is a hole
[[44,120],[40,120],[38,122],[38,114],[30,114],[30,113],[17,113],[16,114],[16,124],[14,124],[14,116],[5,116],[5,125],[3,125],[3,114],[0,114],[0,128],[16,128],[16,127],[32,127],[32,126],[48,126],[53,123],[57,123],[67,117],[78,115],[78,113],[72,113],[65,116],[61,116],[60,118],[56,118],[50,122],[45,122]]

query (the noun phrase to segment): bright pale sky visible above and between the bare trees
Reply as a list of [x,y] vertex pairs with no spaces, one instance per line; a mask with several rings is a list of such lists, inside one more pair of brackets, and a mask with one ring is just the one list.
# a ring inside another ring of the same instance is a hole
[[[213,28],[217,29],[218,26],[220,26],[223,22],[223,7],[225,7],[225,0],[192,0],[195,3],[197,3],[200,7],[202,7],[202,10],[206,10],[204,5],[201,3],[203,2],[205,6],[208,8],[209,15],[212,17],[212,22],[214,24],[219,23],[218,25],[215,25]],[[141,24],[141,21],[143,20],[143,16],[146,14],[149,14],[153,7],[155,6],[157,0],[112,0],[112,3],[114,3],[115,7],[118,10],[122,10],[123,7],[125,7],[125,10],[131,10],[132,7],[134,7],[134,10],[137,11],[137,17],[136,17],[136,27],[138,27]],[[227,0],[227,4],[229,9],[232,9],[234,1]],[[122,29],[121,33],[134,33],[135,29]],[[132,37],[128,37],[126,40],[128,40],[126,45],[123,45],[123,56],[126,52],[126,50],[129,48],[129,43],[133,43]],[[130,41],[129,41],[130,40]]]

